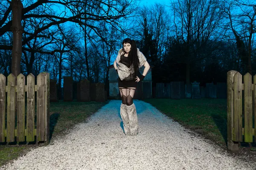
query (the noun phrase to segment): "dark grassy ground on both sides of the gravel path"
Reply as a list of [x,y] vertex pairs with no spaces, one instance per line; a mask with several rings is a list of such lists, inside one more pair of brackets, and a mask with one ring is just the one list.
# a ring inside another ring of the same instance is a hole
[[[227,150],[227,99],[145,99],[143,101],[150,103],[183,127],[196,132],[193,135],[199,134],[207,142],[218,145],[223,151]],[[108,102],[51,102],[50,139],[52,136],[63,136],[67,129],[80,122],[86,122],[90,115]],[[44,146],[44,143],[19,145],[15,142],[9,145],[2,143],[0,166],[26,154],[30,149],[41,146]],[[241,143],[238,152],[228,153],[246,161],[255,161],[256,145]]]

